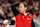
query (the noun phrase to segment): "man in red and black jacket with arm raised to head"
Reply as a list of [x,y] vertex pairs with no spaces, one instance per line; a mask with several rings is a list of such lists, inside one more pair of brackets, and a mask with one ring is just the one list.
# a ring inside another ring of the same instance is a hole
[[[15,8],[18,5],[19,12]],[[16,27],[35,27],[32,16],[26,12],[27,5],[25,3],[15,3],[11,8],[16,17]]]

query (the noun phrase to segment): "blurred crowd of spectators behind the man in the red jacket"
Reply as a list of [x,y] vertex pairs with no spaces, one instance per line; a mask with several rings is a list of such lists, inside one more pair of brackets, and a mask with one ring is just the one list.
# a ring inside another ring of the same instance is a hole
[[40,0],[0,0],[0,27],[5,19],[11,21],[14,17],[10,6],[21,2],[27,3],[27,12],[33,16],[36,27],[40,26]]

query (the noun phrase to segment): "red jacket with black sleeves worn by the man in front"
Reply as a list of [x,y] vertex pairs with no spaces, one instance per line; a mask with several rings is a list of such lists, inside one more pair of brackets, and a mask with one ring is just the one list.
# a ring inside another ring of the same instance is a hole
[[13,14],[16,17],[16,27],[35,27],[32,16],[30,16],[29,14],[25,16],[24,14],[21,14],[16,10],[15,7],[18,5],[19,3],[14,3],[13,5],[11,5]]

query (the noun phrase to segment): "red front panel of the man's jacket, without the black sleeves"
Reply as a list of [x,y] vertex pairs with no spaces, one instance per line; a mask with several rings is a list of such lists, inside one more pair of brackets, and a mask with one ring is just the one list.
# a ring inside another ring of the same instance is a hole
[[[24,18],[24,20],[23,20]],[[31,27],[32,16],[19,13],[16,16],[16,27]]]

